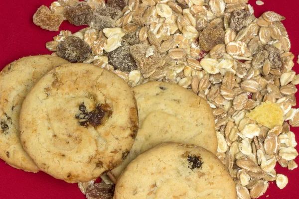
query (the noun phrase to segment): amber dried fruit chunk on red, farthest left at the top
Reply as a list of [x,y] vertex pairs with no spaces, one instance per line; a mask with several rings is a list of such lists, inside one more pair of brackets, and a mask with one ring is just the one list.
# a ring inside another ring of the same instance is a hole
[[42,29],[50,31],[58,31],[64,17],[60,14],[51,13],[50,9],[42,5],[33,15],[33,23],[40,26]]

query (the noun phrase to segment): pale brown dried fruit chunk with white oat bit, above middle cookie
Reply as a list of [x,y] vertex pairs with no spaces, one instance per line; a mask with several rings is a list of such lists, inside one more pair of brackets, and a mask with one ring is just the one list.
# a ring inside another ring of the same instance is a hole
[[[146,54],[149,47],[152,52],[148,54],[147,57]],[[131,46],[130,53],[136,61],[138,70],[140,70],[143,74],[152,73],[165,63],[157,49],[154,46],[149,46],[148,44],[135,44]]]

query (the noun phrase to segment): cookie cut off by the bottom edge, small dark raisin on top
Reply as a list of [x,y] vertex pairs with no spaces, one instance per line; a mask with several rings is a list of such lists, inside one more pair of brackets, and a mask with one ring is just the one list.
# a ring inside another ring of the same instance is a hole
[[236,199],[235,183],[210,151],[166,142],[132,161],[113,199]]

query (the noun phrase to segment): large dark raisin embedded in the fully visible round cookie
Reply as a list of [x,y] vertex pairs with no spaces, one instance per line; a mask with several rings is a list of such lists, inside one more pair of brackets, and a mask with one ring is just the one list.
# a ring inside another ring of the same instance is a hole
[[79,105],[79,114],[75,115],[79,119],[79,124],[84,127],[92,125],[97,127],[103,124],[112,114],[111,108],[108,104],[98,104],[94,110],[88,112],[84,103]]

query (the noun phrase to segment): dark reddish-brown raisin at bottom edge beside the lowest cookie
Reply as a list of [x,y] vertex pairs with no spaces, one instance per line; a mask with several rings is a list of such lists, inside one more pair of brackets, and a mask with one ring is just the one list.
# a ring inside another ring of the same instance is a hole
[[115,185],[96,183],[91,185],[86,191],[87,199],[112,199]]

